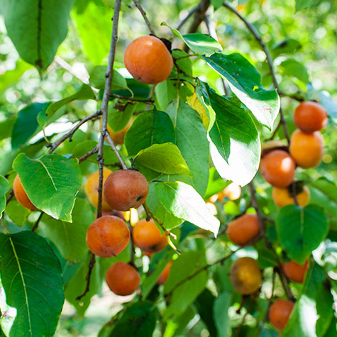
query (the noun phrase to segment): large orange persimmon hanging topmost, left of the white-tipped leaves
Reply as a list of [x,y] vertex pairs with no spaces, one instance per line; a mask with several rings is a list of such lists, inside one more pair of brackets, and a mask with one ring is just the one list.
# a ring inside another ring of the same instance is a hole
[[124,65],[137,81],[157,84],[169,77],[173,59],[162,40],[146,35],[128,45],[124,53]]

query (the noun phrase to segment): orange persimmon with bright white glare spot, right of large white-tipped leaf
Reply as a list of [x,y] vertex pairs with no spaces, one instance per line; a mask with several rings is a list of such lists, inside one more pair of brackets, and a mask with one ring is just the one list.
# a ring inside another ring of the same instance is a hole
[[296,165],[284,150],[272,150],[261,159],[260,172],[263,178],[276,187],[287,187],[292,183]]

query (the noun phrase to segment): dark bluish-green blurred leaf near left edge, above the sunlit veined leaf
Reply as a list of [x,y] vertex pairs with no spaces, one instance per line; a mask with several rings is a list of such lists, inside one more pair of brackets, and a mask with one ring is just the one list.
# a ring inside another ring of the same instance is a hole
[[13,126],[11,146],[18,148],[26,143],[36,131],[39,131],[36,117],[40,112],[45,111],[49,103],[32,103],[18,111],[18,118]]

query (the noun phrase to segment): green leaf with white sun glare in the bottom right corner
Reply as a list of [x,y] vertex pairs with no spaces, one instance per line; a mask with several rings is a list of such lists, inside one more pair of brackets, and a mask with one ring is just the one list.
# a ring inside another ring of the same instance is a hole
[[324,269],[314,263],[307,272],[302,292],[282,336],[324,336],[334,316],[333,297],[325,282]]

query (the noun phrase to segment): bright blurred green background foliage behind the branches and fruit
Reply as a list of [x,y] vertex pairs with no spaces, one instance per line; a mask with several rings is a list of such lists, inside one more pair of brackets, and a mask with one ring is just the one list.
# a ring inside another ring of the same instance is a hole
[[[131,1],[124,2],[125,5],[128,2],[131,3]],[[337,101],[336,1],[321,1],[321,4],[314,9],[302,11],[295,11],[294,0],[234,0],[232,2],[234,6],[238,6],[240,13],[258,29],[263,36],[263,40],[270,48],[277,70],[277,79],[284,94],[305,96],[306,99],[320,99],[323,92],[326,100]],[[109,3],[110,0],[75,1],[67,38],[60,45],[55,61],[42,75],[38,73],[35,67],[28,65],[18,57],[16,49],[6,35],[4,20],[0,16],[0,134],[2,135],[2,139],[0,139],[0,162],[5,162],[5,158],[14,158],[19,151],[13,149],[11,138],[6,137],[6,135],[11,135],[11,129],[18,116],[18,111],[23,109],[26,104],[57,101],[74,94],[82,85],[81,79],[87,79],[94,66],[106,64],[111,38],[112,9],[109,7]],[[169,26],[177,27],[179,22],[198,3],[199,1],[194,0],[156,0],[143,1],[143,6],[145,6],[148,17],[158,35],[171,38],[170,30],[165,26],[160,26],[160,23],[165,22]],[[217,38],[223,46],[223,53],[238,52],[243,54],[262,74],[263,85],[272,87],[272,79],[268,72],[267,62],[265,62],[265,54],[243,23],[223,7],[210,13],[210,21],[211,28],[216,32]],[[187,23],[182,28],[182,32],[186,32],[188,26]],[[205,23],[201,23],[200,29],[203,33],[208,32]],[[126,77],[128,74],[123,69],[123,50],[131,40],[147,33],[147,28],[140,13],[133,6],[131,6],[131,9],[124,6],[115,66]],[[178,40],[172,40],[172,45],[173,48],[182,47]],[[219,75],[210,67],[207,67],[204,62],[193,60],[193,71],[195,76],[207,79],[212,87],[216,88],[221,94],[223,93],[223,84]],[[46,130],[46,136],[53,136],[54,133],[69,130],[72,123],[79,118],[96,111],[96,104],[96,101],[88,100],[76,101],[71,106],[65,106],[62,109],[67,114],[64,114],[62,118]],[[290,133],[295,128],[292,122],[292,113],[297,104],[297,101],[289,99],[289,97],[282,98],[282,106],[287,117]],[[336,120],[337,118],[337,104],[331,106],[335,111],[334,118],[331,118],[329,122],[332,125],[333,119]],[[87,128],[98,130],[98,127],[97,122],[88,123],[82,128],[82,132],[76,134],[76,137],[81,140],[95,137],[93,133],[86,133],[86,131]],[[263,135],[265,138],[270,136],[265,131],[263,131]],[[278,136],[283,137],[282,131]],[[39,139],[43,146],[42,134],[38,134],[34,142]],[[299,179],[314,181],[314,179],[323,176],[333,182],[337,181],[337,133],[335,125],[326,128],[324,140],[326,153],[323,162],[318,169],[299,170],[297,173]],[[64,154],[70,153],[70,150],[71,143],[63,146]],[[87,170],[91,170],[89,165],[94,164],[88,163]],[[6,170],[4,171],[6,172]],[[262,179],[258,179],[256,183],[260,193],[259,202],[261,205],[265,204],[265,208],[267,208],[270,206],[267,200],[271,199],[271,189]],[[242,203],[246,192],[243,189],[243,198],[240,205],[227,206],[229,208],[233,206],[233,214],[235,214],[238,206],[245,208],[246,205]],[[219,214],[223,213],[223,205],[221,204],[220,207]],[[264,209],[264,211],[271,213],[275,209]],[[230,217],[233,217],[233,214]],[[228,218],[221,219],[221,222],[223,221],[228,221]],[[336,219],[335,221],[337,222]],[[194,243],[189,241],[189,244],[204,245],[202,241],[199,242],[197,239]],[[216,251],[216,247],[214,251]],[[55,336],[96,336],[96,331],[118,309],[121,309],[120,298],[111,294],[106,288],[102,290],[102,294],[104,294],[103,297],[95,296],[93,298],[84,319],[77,316],[76,311],[70,304],[66,304]],[[234,326],[238,324],[244,314],[243,311],[241,311],[241,314],[236,314],[235,309],[233,309],[230,313],[233,320],[231,324]],[[194,316],[193,312],[192,316]],[[248,316],[248,324],[250,320],[254,321],[254,318]],[[184,336],[209,336],[209,331],[205,328],[199,315],[195,315],[194,319],[189,322],[186,331]],[[156,333],[155,336],[160,336],[160,331],[156,331]]]

